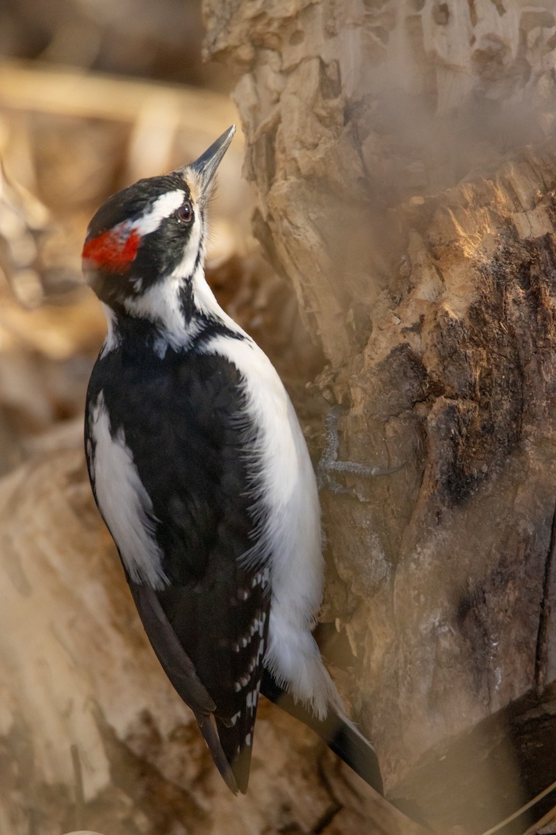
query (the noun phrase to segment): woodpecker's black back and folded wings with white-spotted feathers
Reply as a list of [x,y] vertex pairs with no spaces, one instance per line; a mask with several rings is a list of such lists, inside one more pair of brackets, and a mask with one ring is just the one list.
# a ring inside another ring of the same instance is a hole
[[153,502],[170,580],[155,591],[128,578],[139,615],[224,779],[245,792],[269,592],[256,549],[241,559],[263,518],[242,378],[222,357],[118,347],[93,370],[89,408],[100,392]]

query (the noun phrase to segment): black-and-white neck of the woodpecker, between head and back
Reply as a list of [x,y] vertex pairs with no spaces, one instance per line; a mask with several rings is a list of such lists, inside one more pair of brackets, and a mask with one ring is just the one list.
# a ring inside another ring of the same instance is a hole
[[103,309],[108,322],[103,353],[139,340],[163,356],[168,347],[187,349],[215,327],[241,331],[218,304],[202,265],[187,279],[168,276],[122,306]]

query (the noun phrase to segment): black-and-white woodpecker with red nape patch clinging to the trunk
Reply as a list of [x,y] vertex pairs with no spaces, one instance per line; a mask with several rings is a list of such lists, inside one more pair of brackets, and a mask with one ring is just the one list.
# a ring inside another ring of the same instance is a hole
[[113,195],[88,226],[83,271],[108,320],[89,475],[148,638],[228,787],[247,789],[262,692],[380,792],[312,635],[323,557],[303,433],[204,278],[208,197],[234,131]]

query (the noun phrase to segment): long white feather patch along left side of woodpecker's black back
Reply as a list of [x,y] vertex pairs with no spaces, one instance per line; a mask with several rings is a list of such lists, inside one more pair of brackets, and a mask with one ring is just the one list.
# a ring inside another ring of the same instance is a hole
[[118,546],[131,579],[161,590],[168,584],[162,554],[153,539],[153,503],[139,478],[122,433],[113,438],[100,392],[93,407],[94,489],[103,519]]

